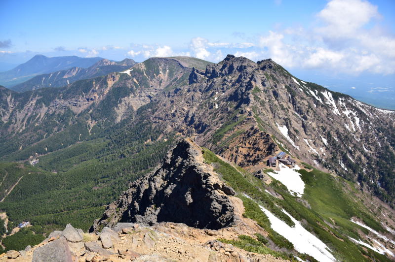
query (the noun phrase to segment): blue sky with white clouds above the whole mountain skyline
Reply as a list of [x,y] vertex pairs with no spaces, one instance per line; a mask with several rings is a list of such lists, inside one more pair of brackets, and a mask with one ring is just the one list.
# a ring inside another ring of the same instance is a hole
[[272,58],[336,91],[395,98],[394,14],[394,0],[0,0],[0,70],[36,54],[138,62],[235,54]]

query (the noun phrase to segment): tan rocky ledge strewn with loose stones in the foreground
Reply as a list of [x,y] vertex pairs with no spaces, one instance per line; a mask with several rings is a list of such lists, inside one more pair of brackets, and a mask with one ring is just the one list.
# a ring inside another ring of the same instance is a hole
[[[70,224],[43,242],[21,251],[8,251],[0,261],[15,262],[278,262],[271,255],[249,253],[217,241],[236,237],[246,228],[195,229],[185,224],[118,223],[114,229],[84,233]],[[253,230],[250,229],[250,233]]]

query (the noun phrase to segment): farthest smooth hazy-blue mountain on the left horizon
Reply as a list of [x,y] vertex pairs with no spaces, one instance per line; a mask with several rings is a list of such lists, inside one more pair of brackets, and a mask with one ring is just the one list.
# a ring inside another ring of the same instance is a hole
[[46,57],[36,55],[28,62],[15,68],[0,72],[0,85],[12,87],[22,83],[38,74],[50,73],[71,67],[89,67],[102,60],[100,57],[81,58],[77,56],[68,57]]

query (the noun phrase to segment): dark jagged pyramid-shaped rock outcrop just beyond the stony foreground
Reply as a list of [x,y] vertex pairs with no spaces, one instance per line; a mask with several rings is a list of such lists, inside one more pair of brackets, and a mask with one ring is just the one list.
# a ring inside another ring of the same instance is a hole
[[235,222],[234,207],[216,173],[203,163],[200,147],[184,139],[166,155],[154,173],[134,182],[96,220],[91,231],[118,222],[184,223],[190,227],[220,229]]

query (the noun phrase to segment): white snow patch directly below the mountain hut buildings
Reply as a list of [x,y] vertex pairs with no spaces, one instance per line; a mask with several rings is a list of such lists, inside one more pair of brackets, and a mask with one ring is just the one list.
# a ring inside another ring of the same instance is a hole
[[284,184],[291,194],[296,193],[297,197],[302,197],[305,191],[305,183],[300,177],[300,173],[296,172],[300,167],[295,165],[294,168],[289,168],[282,163],[279,163],[278,167],[280,171],[276,171],[276,173],[269,172],[268,174]]

